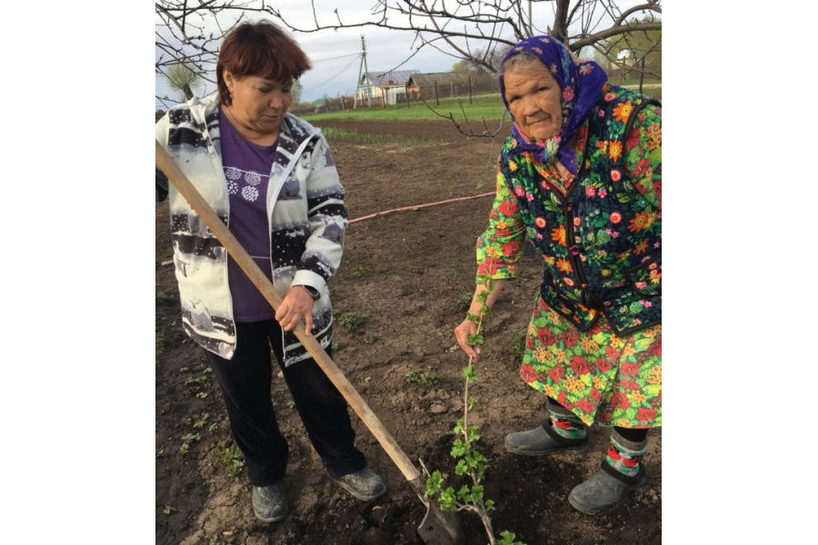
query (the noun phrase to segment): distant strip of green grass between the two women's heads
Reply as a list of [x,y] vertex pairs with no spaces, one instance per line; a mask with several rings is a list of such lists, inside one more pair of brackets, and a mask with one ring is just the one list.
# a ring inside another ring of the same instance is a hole
[[[440,120],[443,119],[441,115],[447,117],[451,114],[458,123],[464,121],[464,119],[467,119],[471,123],[481,123],[483,120],[499,122],[505,112],[503,101],[500,100],[500,94],[474,96],[472,104],[469,104],[469,98],[467,96],[441,99],[439,105],[435,104],[434,100],[426,104],[432,106],[440,115],[435,114],[423,103],[412,103],[409,106],[400,104],[387,106],[385,108],[358,108],[355,110],[347,110],[346,112],[303,114],[302,117],[310,123],[333,119],[416,121]],[[508,118],[506,117],[506,119]]]

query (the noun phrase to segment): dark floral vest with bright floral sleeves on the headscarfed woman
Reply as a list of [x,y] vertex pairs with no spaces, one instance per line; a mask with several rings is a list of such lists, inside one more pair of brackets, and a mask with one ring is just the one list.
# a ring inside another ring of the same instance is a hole
[[514,276],[524,236],[543,256],[540,294],[585,331],[601,315],[627,334],[662,322],[661,106],[606,85],[578,134],[576,176],[504,143],[478,274]]

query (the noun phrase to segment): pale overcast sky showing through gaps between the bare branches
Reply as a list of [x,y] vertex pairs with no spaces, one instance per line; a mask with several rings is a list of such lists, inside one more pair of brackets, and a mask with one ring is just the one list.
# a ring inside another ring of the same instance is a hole
[[[624,9],[635,4],[636,0],[622,0],[618,3]],[[370,7],[374,2],[360,0],[314,0],[318,11],[318,21],[322,24],[332,24],[335,21],[334,10],[337,8],[344,23],[373,20]],[[362,7],[363,6],[363,7]],[[313,14],[308,2],[291,1],[286,5],[277,6],[289,22],[304,28],[314,25]],[[547,25],[554,17],[553,3],[534,4],[534,25],[545,33]],[[250,20],[259,18],[259,15],[248,12]],[[392,19],[396,21],[395,18]],[[223,25],[229,27],[229,21]],[[504,33],[509,35],[509,32]],[[411,32],[390,31],[374,26],[346,28],[341,30],[326,30],[316,33],[292,33],[295,40],[304,49],[310,58],[313,68],[302,78],[304,86],[302,100],[312,101],[324,96],[334,97],[339,94],[351,94],[355,89],[355,80],[361,68],[361,35],[366,43],[366,65],[370,72],[393,69],[414,52],[414,34]],[[431,46],[424,46],[400,69],[414,69],[425,73],[448,72],[458,57],[446,54]],[[206,94],[214,90],[209,84],[205,90],[197,94]],[[161,77],[156,78],[156,94],[175,97],[168,90]],[[157,104],[157,107],[159,104]]]

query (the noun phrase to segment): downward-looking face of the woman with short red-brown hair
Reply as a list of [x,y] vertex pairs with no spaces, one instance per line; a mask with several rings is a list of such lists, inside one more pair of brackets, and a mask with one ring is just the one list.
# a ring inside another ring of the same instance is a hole
[[292,82],[282,84],[256,75],[237,78],[225,71],[224,83],[233,97],[230,113],[238,123],[258,134],[278,134],[293,102]]

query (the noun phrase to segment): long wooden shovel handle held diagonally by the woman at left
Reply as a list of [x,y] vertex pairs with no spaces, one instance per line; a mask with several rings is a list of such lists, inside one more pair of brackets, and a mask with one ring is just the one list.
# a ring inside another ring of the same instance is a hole
[[[270,306],[277,309],[282,299],[281,296],[275,292],[273,282],[271,282],[270,279],[264,275],[261,268],[254,263],[241,243],[236,240],[233,233],[230,233],[227,226],[224,225],[219,216],[214,213],[213,208],[205,202],[205,199],[196,190],[193,183],[190,183],[185,174],[179,170],[174,160],[170,158],[167,152],[165,152],[165,148],[163,148],[162,144],[159,144],[158,141],[156,142],[156,166],[165,173],[165,176],[174,184],[176,190],[182,193],[185,200],[190,203],[195,212],[202,217],[205,224],[227,250],[227,253],[233,256],[235,263],[239,264],[254,283],[255,287],[258,288],[259,292],[264,295],[264,299],[270,303]],[[384,451],[389,454],[389,457],[392,458],[392,461],[398,466],[398,469],[404,473],[406,480],[416,482],[415,479],[420,473],[414,467],[412,461],[409,460],[404,451],[397,444],[397,441],[394,441],[394,437],[392,437],[389,431],[386,431],[384,424],[378,420],[378,417],[369,408],[369,405],[366,404],[364,398],[355,391],[350,381],[346,380],[344,373],[338,369],[338,366],[335,365],[335,362],[329,357],[329,354],[324,351],[321,344],[317,342],[312,335],[304,333],[304,322],[299,321],[293,332],[298,340],[304,344],[304,348],[306,348],[307,352],[313,356],[318,366],[324,370],[324,374],[333,382],[335,388],[341,392],[346,402],[349,403],[350,407],[352,407],[355,413],[364,421],[369,431],[372,431],[375,439],[384,447]]]

